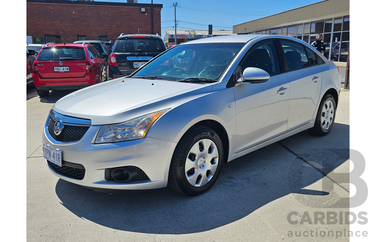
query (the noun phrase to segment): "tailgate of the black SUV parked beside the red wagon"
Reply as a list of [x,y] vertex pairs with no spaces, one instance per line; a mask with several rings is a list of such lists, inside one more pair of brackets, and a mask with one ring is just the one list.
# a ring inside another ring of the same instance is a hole
[[126,74],[135,71],[165,50],[166,45],[162,39],[139,36],[118,39],[112,52],[116,53],[119,72]]

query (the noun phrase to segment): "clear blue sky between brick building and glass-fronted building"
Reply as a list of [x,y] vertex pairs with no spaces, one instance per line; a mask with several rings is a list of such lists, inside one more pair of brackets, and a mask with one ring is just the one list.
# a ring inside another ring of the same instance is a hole
[[[126,0],[96,0],[96,2],[123,2]],[[138,3],[151,3],[151,0],[138,0]],[[318,0],[153,0],[155,4],[162,4],[161,27],[164,36],[165,30],[173,29],[174,8],[173,2],[178,2],[176,8],[177,30],[208,30],[208,25],[213,25],[213,30],[232,30],[232,26],[245,23],[269,15],[299,8]],[[186,23],[183,23],[186,22]],[[202,25],[203,24],[203,25]],[[216,27],[219,26],[219,27]]]

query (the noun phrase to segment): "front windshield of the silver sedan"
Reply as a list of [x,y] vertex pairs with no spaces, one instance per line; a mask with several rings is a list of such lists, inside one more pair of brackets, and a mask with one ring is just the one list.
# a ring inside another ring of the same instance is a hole
[[218,81],[245,43],[178,45],[152,60],[132,77],[163,77],[173,81],[206,78]]

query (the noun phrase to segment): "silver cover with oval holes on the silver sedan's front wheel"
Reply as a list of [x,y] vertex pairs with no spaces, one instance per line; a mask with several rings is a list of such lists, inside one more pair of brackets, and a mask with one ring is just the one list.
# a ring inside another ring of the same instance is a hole
[[209,139],[197,141],[185,161],[185,177],[195,187],[206,185],[218,167],[218,149]]

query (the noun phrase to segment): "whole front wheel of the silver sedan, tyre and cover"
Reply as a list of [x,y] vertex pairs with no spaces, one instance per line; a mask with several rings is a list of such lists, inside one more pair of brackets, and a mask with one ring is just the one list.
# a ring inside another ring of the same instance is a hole
[[168,185],[189,196],[208,191],[218,179],[223,153],[222,141],[214,130],[204,126],[191,129],[176,146]]

